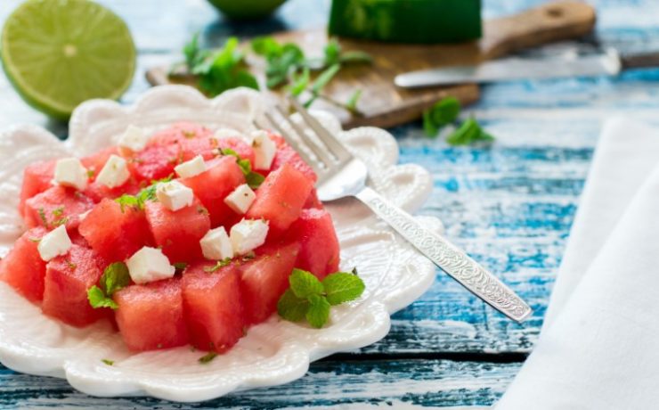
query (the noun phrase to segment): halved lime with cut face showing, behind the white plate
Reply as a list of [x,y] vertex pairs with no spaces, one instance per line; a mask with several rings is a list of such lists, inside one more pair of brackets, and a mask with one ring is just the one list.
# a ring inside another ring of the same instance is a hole
[[4,23],[1,41],[13,86],[57,119],[91,98],[118,99],[133,79],[135,46],[126,23],[88,0],[28,0]]

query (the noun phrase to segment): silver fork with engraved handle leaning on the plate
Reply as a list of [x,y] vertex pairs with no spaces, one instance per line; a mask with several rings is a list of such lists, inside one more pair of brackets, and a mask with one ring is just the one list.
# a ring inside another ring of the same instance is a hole
[[[275,106],[275,110],[279,112],[283,121],[288,123],[290,129],[294,130],[297,138],[281,127],[281,120],[275,119],[272,113],[266,111],[264,116],[313,167],[318,175],[316,189],[321,201],[357,198],[436,266],[478,298],[517,322],[522,322],[531,315],[531,307],[523,299],[474,259],[469,258],[464,250],[460,250],[441,235],[427,230],[410,214],[366,186],[368,168],[362,160],[348,152],[343,143],[322,127],[321,123],[314,119],[299,102],[293,98],[289,101],[304,119],[305,125],[313,130],[316,138],[307,135],[305,130],[292,121],[279,105]],[[256,121],[256,126],[268,128],[264,127],[262,121]],[[308,155],[305,148],[313,153],[315,159]]]

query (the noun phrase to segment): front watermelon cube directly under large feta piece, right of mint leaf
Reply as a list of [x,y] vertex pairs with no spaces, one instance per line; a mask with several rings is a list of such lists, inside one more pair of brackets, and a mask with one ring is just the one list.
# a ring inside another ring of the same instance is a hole
[[188,344],[179,278],[130,285],[115,293],[114,299],[119,332],[131,350]]

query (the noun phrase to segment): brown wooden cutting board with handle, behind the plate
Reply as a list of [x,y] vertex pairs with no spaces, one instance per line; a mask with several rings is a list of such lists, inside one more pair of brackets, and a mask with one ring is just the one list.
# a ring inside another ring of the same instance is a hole
[[[362,89],[357,108],[362,115],[318,100],[314,108],[333,111],[345,127],[393,127],[413,119],[436,101],[453,95],[463,104],[478,99],[478,87],[460,86],[427,87],[406,90],[394,85],[397,74],[440,66],[476,64],[499,58],[521,49],[550,42],[582,37],[595,26],[595,10],[588,4],[561,1],[512,16],[484,21],[484,36],[477,42],[458,45],[403,45],[386,44],[341,38],[345,50],[362,50],[373,57],[373,63],[349,66],[339,71],[323,90],[333,100],[347,102],[356,89]],[[440,28],[438,28],[440,29]],[[307,55],[319,55],[327,43],[325,29],[288,31],[273,35],[281,42],[300,45]],[[248,61],[253,70],[263,77],[264,63],[260,59]],[[148,70],[147,80],[153,86],[163,84],[194,84],[193,78],[176,79],[167,76],[167,67]]]

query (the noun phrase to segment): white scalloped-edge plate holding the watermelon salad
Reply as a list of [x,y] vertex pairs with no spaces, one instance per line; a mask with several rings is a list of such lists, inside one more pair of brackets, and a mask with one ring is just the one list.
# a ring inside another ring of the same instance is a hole
[[[22,169],[29,163],[95,152],[113,143],[129,124],[155,130],[190,120],[247,131],[263,110],[262,96],[253,90],[232,90],[207,100],[190,87],[159,86],[132,106],[85,102],[73,113],[64,143],[39,127],[13,127],[0,134],[0,255],[24,230],[16,208]],[[362,127],[344,132],[329,114],[314,115],[369,165],[371,185],[386,198],[410,211],[426,201],[430,176],[415,165],[395,165],[398,146],[386,131]],[[185,402],[302,377],[313,360],[382,339],[390,315],[419,298],[435,279],[433,264],[357,201],[330,203],[327,209],[337,227],[342,267],[357,266],[366,291],[361,299],[334,308],[330,324],[321,330],[274,315],[251,328],[231,351],[199,365],[202,353],[190,348],[134,354],[109,325],[76,329],[61,324],[0,283],[0,362],[18,372],[66,378],[94,396],[150,395]],[[442,230],[439,220],[425,219]],[[115,365],[104,365],[103,358]]]

